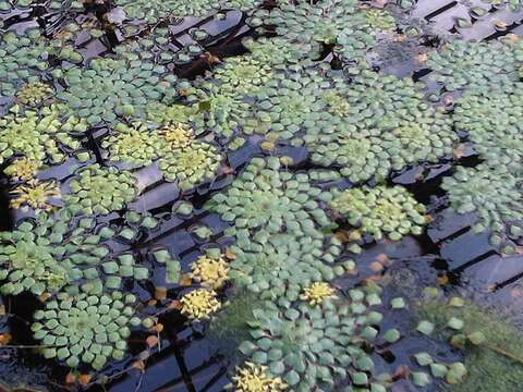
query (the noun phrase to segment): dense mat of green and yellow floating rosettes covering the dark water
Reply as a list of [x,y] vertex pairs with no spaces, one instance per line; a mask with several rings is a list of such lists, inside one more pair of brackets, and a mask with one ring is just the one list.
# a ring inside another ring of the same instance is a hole
[[[442,160],[458,166],[452,154],[466,133],[482,163],[443,179],[450,207],[475,212],[474,230],[488,230],[504,253],[523,234],[523,45],[513,36],[455,37],[434,49],[425,65],[441,89],[427,100],[423,83],[367,63],[378,44],[399,39],[392,3],[117,0],[124,17],[148,28],[88,61],[74,49],[75,24],[54,38],[3,32],[0,93],[9,110],[0,119],[0,163],[21,218],[0,233],[0,292],[47,298],[32,324],[46,358],[95,370],[124,359],[131,333],[156,322],[124,283],[160,269],[166,284],[192,282],[171,310],[187,323],[228,315],[228,295],[256,295],[231,371],[236,391],[389,389],[393,378],[377,371],[372,353],[401,339],[390,322],[381,324],[404,301],[384,304],[379,286],[343,291],[336,280],[357,272],[351,254],[366,244],[421,235],[430,222],[423,204],[391,185],[391,174]],[[415,1],[398,3],[410,9]],[[42,5],[0,1],[1,11],[33,7]],[[47,7],[76,12],[84,4]],[[196,44],[177,50],[161,22],[226,9],[247,12],[266,36],[245,39],[245,54],[204,76],[177,77],[173,65],[200,56],[206,33],[192,32]],[[326,51],[341,70],[320,61]],[[452,112],[440,103],[447,93],[455,94]],[[86,139],[100,130],[92,154]],[[192,192],[227,172],[229,152],[253,143],[263,154],[204,207],[227,223],[231,246],[207,246],[183,277],[168,249],[133,248],[174,215],[191,216]],[[282,146],[306,149],[314,170],[296,169]],[[40,175],[62,163],[65,177]],[[144,169],[182,191],[184,201],[167,217],[135,209],[147,187]],[[339,226],[346,241],[335,235]],[[422,322],[415,333],[430,334],[431,326]],[[417,387],[466,373],[460,363],[415,357],[422,369],[410,378]]]

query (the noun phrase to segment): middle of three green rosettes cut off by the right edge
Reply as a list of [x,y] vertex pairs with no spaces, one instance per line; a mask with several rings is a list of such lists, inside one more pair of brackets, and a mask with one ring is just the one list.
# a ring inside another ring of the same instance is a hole
[[521,172],[523,161],[522,85],[488,95],[465,93],[453,113],[455,127],[469,133],[474,149],[491,166]]

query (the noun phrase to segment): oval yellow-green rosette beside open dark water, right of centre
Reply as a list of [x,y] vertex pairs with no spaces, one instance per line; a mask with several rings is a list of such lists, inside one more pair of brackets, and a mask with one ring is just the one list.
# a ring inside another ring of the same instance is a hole
[[422,234],[428,223],[425,206],[399,185],[351,188],[335,195],[330,207],[355,228],[356,238],[370,234],[377,241],[385,236],[399,241]]

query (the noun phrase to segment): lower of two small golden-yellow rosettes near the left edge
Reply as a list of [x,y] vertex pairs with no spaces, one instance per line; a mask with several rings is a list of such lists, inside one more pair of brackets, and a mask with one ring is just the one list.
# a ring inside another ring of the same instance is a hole
[[50,210],[47,201],[50,197],[60,197],[60,187],[53,181],[31,181],[27,185],[20,185],[12,192],[15,199],[11,200],[11,208],[20,208],[26,205],[33,209]]

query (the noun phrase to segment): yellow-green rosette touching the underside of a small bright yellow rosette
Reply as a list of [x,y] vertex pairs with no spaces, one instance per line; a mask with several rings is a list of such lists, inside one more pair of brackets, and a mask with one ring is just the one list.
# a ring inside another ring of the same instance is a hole
[[211,144],[193,142],[182,149],[166,154],[158,167],[166,181],[177,181],[180,188],[188,189],[203,181],[211,180],[221,162],[221,155]]

